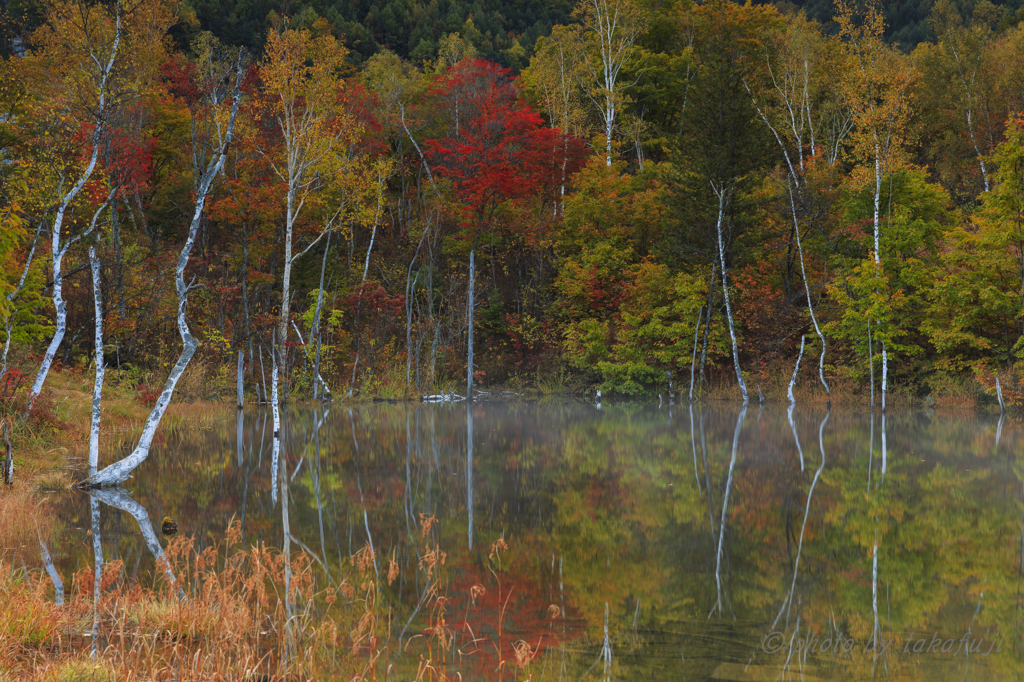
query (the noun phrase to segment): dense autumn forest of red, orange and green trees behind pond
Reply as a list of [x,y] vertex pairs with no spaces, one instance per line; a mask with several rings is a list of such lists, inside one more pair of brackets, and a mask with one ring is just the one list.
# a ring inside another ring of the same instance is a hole
[[1019,399],[1018,4],[8,3],[5,411],[54,367],[166,408],[237,361],[258,399],[467,363]]

